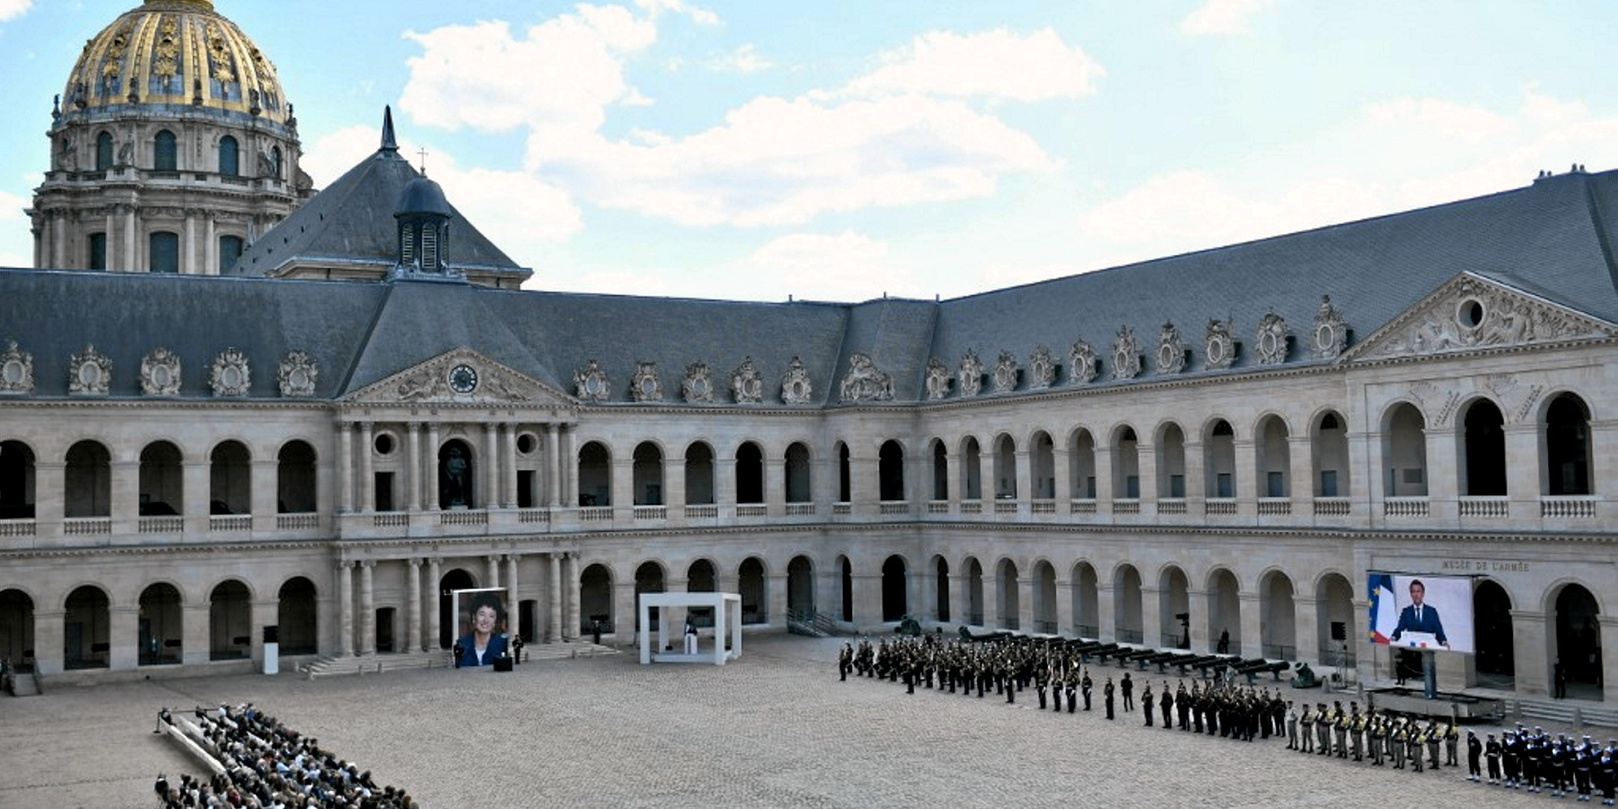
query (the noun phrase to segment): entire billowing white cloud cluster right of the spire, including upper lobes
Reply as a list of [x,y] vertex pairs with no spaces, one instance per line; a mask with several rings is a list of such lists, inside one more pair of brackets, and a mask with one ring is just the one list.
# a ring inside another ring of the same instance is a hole
[[[408,61],[400,105],[417,123],[524,133],[524,168],[597,205],[681,225],[801,225],[825,212],[985,197],[1008,173],[1053,168],[1027,133],[951,95],[1073,95],[1100,74],[1050,29],[929,34],[858,92],[754,97],[689,134],[607,136],[613,108],[650,104],[625,65],[655,44],[655,18],[693,13],[637,2],[649,16],[579,5],[526,32],[505,23],[411,32],[422,52]],[[767,63],[752,45],[726,61]]]

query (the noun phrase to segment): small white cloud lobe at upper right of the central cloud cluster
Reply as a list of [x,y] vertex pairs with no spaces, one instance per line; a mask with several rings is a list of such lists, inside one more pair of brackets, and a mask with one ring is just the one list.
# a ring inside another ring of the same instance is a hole
[[883,65],[854,79],[859,94],[922,92],[1021,102],[1095,92],[1107,74],[1078,45],[1050,28],[1016,36],[1003,28],[977,34],[932,31],[882,55]]

